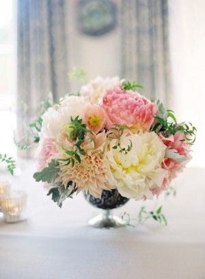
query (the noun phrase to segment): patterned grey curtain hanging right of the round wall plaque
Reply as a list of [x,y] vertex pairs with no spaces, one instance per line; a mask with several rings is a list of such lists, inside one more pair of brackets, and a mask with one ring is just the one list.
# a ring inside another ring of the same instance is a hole
[[143,84],[151,99],[169,104],[168,0],[122,0],[122,77]]

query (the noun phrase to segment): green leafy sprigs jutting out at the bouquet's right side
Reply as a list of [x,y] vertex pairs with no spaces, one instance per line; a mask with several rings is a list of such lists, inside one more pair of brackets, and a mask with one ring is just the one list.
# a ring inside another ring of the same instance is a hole
[[185,135],[184,141],[192,145],[195,142],[196,128],[191,123],[177,123],[173,110],[165,110],[163,104],[156,101],[157,113],[154,124],[150,128],[151,132],[162,132],[165,137],[182,131]]

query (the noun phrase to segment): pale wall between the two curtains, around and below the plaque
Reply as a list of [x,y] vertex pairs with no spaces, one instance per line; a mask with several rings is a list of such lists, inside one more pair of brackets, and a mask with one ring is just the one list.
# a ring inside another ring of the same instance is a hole
[[[119,5],[120,1],[115,1]],[[101,36],[88,36],[77,29],[77,1],[69,1],[68,12],[70,45],[70,69],[82,66],[88,78],[120,75],[120,28],[119,25]]]

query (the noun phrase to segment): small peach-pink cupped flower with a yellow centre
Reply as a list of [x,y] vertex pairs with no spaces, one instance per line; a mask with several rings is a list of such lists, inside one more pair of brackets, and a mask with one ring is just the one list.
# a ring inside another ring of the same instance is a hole
[[83,123],[92,132],[98,134],[105,127],[105,111],[98,105],[87,104],[83,112]]

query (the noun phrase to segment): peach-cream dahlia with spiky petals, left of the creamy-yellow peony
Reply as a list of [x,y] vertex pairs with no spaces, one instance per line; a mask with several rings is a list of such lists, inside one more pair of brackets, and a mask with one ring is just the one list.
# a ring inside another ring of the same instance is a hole
[[[74,166],[60,164],[59,177],[56,182],[62,182],[64,186],[68,181],[76,184],[77,192],[90,192],[94,197],[101,197],[102,190],[113,189],[112,176],[108,171],[108,162],[105,158],[106,134],[102,132],[97,136],[86,136],[82,147],[85,156],[81,156],[81,162],[75,162]],[[62,154],[61,158],[66,158]]]

